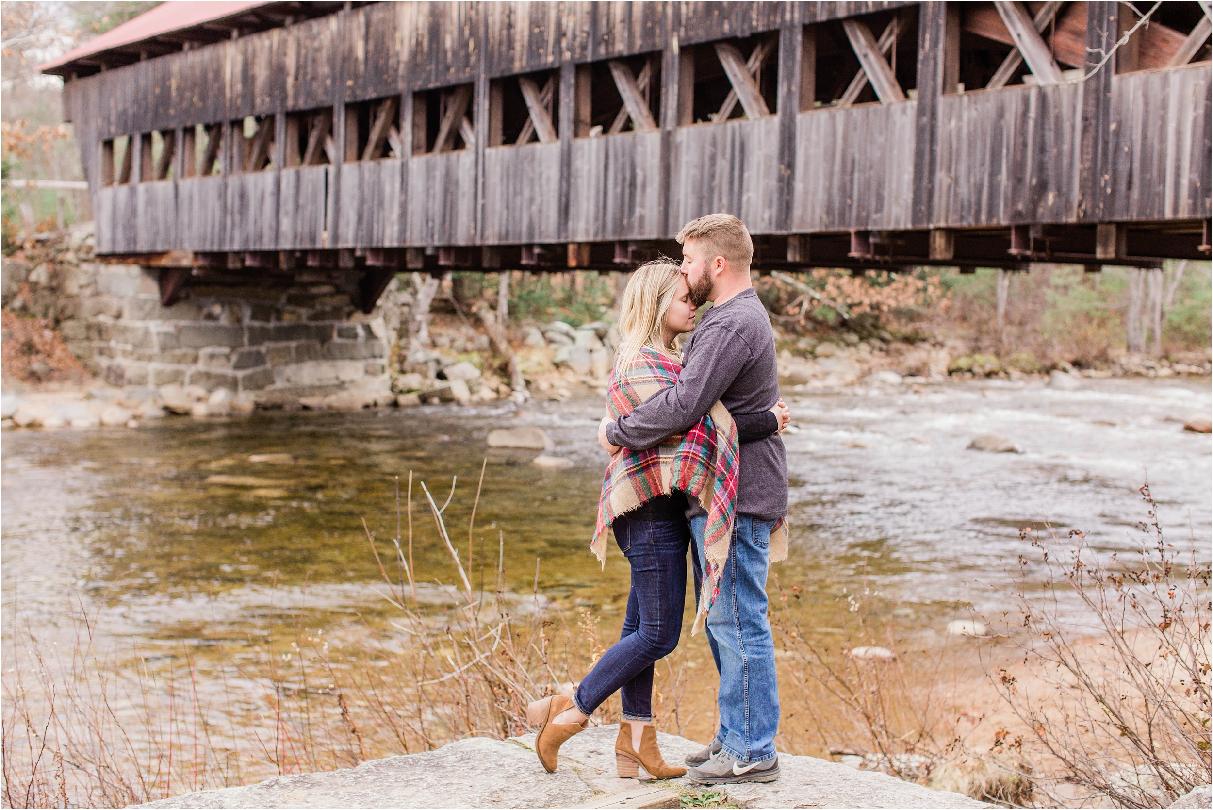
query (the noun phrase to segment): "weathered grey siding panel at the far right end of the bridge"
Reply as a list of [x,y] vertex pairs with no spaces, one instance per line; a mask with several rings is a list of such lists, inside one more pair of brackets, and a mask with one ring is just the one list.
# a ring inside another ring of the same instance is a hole
[[1209,68],[1112,79],[1110,219],[1209,216]]

